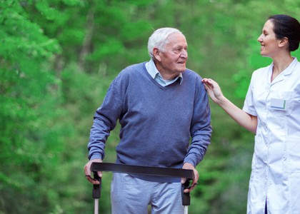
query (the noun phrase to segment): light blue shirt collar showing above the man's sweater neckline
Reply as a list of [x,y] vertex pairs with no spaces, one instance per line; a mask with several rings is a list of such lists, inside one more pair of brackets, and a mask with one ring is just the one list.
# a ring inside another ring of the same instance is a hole
[[159,83],[161,86],[169,86],[171,83],[174,83],[178,78],[179,78],[180,84],[183,81],[182,73],[180,73],[179,76],[176,76],[175,78],[173,78],[171,80],[164,80],[164,78],[162,78],[162,76],[161,76],[161,73],[159,73],[159,71],[157,70],[152,58],[149,62],[146,63],[146,69],[147,69],[148,73],[150,74],[150,76],[152,78],[154,78],[154,80],[157,83]]

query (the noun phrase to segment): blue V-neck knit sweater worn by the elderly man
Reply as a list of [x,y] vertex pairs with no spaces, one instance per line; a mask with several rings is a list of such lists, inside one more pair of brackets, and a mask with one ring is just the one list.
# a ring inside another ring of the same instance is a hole
[[[119,120],[120,142],[116,163],[181,168],[196,166],[211,138],[207,93],[201,77],[186,69],[183,82],[161,86],[145,63],[125,68],[114,79],[94,115],[89,158],[104,158],[106,139]],[[138,176],[157,182],[178,182],[166,177]]]

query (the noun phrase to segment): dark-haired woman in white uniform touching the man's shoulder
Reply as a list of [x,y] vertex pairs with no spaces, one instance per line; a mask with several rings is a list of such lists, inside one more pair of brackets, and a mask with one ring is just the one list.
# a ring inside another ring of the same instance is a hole
[[299,40],[299,21],[269,17],[258,41],[273,63],[252,74],[243,109],[203,79],[211,99],[256,134],[247,213],[300,213],[300,63],[291,56]]

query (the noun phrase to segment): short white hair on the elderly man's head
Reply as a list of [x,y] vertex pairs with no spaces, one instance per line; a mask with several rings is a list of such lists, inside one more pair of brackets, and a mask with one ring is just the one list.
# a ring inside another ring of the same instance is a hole
[[[168,36],[174,33],[182,34],[181,31],[174,28],[161,28],[154,31],[149,37],[148,41],[148,54],[153,58],[153,49],[156,47],[159,51],[164,51],[166,44],[168,44]],[[182,34],[184,36],[184,34]]]

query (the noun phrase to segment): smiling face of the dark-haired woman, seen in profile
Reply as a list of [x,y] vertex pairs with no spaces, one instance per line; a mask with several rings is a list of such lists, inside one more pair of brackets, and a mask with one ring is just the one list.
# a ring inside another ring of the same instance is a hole
[[274,24],[271,20],[266,21],[262,34],[257,41],[261,44],[261,56],[273,57],[279,51],[279,39],[273,31]]

